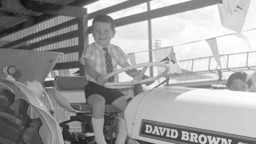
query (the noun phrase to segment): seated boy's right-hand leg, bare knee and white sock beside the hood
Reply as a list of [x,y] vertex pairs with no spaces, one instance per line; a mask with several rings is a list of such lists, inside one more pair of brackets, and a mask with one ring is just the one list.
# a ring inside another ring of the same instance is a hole
[[[121,96],[117,100],[113,101],[112,105],[124,111],[127,105],[127,96]],[[117,135],[116,144],[124,144],[127,137],[126,125],[123,118],[120,118],[119,133]]]

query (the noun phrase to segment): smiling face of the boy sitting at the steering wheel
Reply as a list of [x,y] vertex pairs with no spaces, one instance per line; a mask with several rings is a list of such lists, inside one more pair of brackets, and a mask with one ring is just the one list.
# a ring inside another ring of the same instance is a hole
[[102,47],[107,47],[115,34],[116,31],[112,30],[111,25],[106,22],[95,22],[92,28],[94,41],[102,45]]

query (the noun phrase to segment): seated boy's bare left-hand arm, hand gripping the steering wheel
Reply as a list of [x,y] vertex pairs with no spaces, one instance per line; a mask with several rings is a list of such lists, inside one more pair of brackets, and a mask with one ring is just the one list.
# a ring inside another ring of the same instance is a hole
[[89,76],[91,78],[94,78],[98,85],[104,85],[107,80],[104,78],[105,75],[104,74],[100,74],[93,66],[94,61],[92,59],[84,59],[84,63],[85,63],[85,70],[87,72],[87,74],[89,74]]

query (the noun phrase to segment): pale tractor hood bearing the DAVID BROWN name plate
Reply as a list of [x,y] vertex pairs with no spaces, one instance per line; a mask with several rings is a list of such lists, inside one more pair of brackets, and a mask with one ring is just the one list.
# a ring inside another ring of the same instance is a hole
[[[124,118],[129,137],[154,144],[209,144],[202,137],[255,144],[255,103],[253,92],[164,87],[135,96]],[[203,142],[189,141],[194,136]]]

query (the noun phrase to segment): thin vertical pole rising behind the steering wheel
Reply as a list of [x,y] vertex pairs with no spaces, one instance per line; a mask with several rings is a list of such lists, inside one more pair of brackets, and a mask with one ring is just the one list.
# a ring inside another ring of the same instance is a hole
[[[150,2],[147,2],[147,11],[150,11]],[[148,23],[148,48],[149,48],[149,62],[153,62],[152,60],[152,31],[151,31],[151,19],[147,20]],[[150,76],[153,76],[153,66],[150,66]]]

